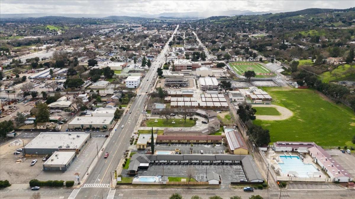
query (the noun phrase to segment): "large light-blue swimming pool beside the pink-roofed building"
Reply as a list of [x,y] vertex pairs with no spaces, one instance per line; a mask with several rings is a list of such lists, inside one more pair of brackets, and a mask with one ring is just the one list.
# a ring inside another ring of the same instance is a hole
[[286,175],[290,171],[295,171],[298,177],[312,177],[313,172],[319,172],[314,165],[304,164],[298,156],[280,155],[280,159],[283,161],[279,163],[280,168]]

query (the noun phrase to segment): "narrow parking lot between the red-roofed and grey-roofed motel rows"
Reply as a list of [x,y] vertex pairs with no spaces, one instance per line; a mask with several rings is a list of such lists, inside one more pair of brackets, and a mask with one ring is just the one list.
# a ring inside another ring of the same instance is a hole
[[[223,144],[155,144],[155,150],[174,150],[180,149],[181,154],[190,154],[190,148],[192,148],[193,154],[199,154],[203,151],[203,154],[224,154],[225,147]],[[148,150],[148,149],[146,149]],[[144,154],[145,151],[139,150],[138,153]]]

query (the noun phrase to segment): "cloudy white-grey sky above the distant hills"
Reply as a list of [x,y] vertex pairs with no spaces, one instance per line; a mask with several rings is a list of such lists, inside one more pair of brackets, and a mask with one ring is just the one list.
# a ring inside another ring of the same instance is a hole
[[242,1],[192,1],[192,0],[0,0],[1,14],[60,13],[140,16],[164,12],[250,10],[295,11],[306,8],[350,8],[354,0],[242,0]]

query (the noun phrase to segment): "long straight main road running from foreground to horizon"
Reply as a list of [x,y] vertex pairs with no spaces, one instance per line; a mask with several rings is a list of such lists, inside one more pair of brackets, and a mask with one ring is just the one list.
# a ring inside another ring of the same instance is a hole
[[[176,33],[176,30],[178,28],[179,26],[176,27],[174,34]],[[169,49],[168,43],[173,38],[173,35],[166,43],[163,51],[152,63],[151,70],[149,70],[146,77],[142,80],[140,88],[137,91],[137,93],[141,93],[142,95],[135,97],[134,102],[132,103],[129,109],[129,111],[131,111],[132,113],[126,113],[122,117],[117,127],[117,130],[113,133],[109,143],[104,149],[105,153],[109,153],[109,157],[107,159],[104,159],[104,153],[99,156],[99,161],[95,165],[94,169],[90,171],[85,184],[111,183],[111,172],[116,169],[120,160],[124,158],[123,152],[129,147],[129,140],[134,128],[136,127],[136,121],[138,120],[138,117],[143,111],[145,103],[148,99],[148,93],[152,90],[152,87],[154,86],[156,79],[155,77],[157,75],[157,68],[162,66],[162,64],[165,62],[165,54],[168,52]],[[125,125],[124,128],[121,128],[122,125]],[[106,198],[109,189],[110,188],[82,188],[81,191],[77,194],[77,198],[101,198],[102,196]]]

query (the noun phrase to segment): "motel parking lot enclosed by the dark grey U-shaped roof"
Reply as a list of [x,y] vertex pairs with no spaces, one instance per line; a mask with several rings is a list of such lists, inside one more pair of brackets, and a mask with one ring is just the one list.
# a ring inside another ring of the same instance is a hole
[[206,171],[207,174],[215,172],[216,174],[221,175],[222,184],[239,182],[241,179],[246,180],[242,166],[239,164],[151,164],[148,170],[139,170],[138,174],[141,176],[162,176],[164,173],[165,176],[170,177],[187,177],[187,169],[189,167],[193,168],[195,174],[193,178],[197,181],[207,180]]

